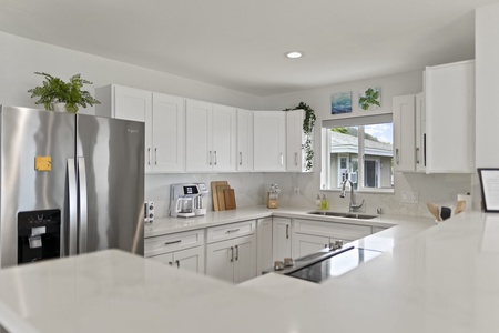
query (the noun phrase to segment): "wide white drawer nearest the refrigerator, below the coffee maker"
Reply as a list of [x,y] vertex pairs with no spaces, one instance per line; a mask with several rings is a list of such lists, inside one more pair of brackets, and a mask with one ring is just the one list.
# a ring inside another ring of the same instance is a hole
[[149,258],[203,244],[204,229],[149,238],[144,241],[144,256]]

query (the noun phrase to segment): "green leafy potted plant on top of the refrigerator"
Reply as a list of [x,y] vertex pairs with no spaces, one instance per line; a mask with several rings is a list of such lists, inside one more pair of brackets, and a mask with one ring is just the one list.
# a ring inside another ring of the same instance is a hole
[[53,103],[65,103],[65,110],[70,113],[77,113],[78,107],[86,108],[93,104],[100,104],[90,92],[82,90],[83,84],[93,84],[82,79],[80,74],[75,74],[64,82],[59,78],[43,72],[34,72],[45,78],[43,85],[28,90],[31,98],[39,98],[35,104],[43,104],[45,110],[53,111]]

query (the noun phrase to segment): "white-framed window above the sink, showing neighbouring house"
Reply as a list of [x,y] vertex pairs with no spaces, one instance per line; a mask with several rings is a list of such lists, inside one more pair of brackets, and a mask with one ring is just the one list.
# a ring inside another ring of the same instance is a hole
[[323,121],[323,190],[339,190],[345,180],[360,192],[393,192],[391,113]]

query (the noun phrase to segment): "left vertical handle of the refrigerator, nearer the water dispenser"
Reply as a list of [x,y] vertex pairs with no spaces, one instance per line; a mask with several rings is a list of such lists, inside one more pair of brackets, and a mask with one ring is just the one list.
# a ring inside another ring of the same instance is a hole
[[77,254],[78,246],[78,189],[77,170],[74,159],[68,159],[68,201],[69,201],[69,223],[68,223],[68,255]]

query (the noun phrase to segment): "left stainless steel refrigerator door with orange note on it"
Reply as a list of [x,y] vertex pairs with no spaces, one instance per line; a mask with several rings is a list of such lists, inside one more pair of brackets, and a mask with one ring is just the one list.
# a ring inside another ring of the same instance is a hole
[[[74,157],[74,119],[69,113],[0,107],[1,268],[18,263],[19,212],[58,209],[61,221],[68,219],[67,163]],[[44,168],[37,168],[35,161],[44,161]],[[62,223],[61,234],[65,233]],[[61,255],[67,255],[64,246]]]

